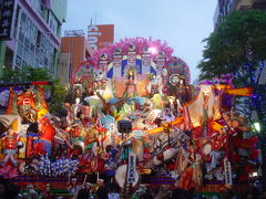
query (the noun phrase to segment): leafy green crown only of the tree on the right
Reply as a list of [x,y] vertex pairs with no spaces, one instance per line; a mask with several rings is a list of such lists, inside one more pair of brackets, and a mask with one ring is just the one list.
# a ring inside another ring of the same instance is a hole
[[266,12],[232,12],[204,41],[204,59],[198,64],[201,78],[236,71],[254,71],[266,60]]

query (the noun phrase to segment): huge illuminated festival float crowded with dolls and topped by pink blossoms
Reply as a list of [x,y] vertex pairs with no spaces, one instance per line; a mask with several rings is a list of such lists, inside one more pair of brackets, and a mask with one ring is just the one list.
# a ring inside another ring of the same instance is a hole
[[20,186],[68,189],[70,179],[170,185],[198,195],[248,187],[257,138],[234,111],[229,75],[191,85],[190,67],[161,41],[124,39],[72,74],[65,108],[49,114],[42,85],[10,86],[0,115],[0,174]]

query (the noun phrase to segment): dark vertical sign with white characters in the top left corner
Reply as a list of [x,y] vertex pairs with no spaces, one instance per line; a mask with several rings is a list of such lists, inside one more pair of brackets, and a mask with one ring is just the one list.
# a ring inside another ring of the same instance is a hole
[[11,40],[17,0],[3,0],[0,13],[0,41]]

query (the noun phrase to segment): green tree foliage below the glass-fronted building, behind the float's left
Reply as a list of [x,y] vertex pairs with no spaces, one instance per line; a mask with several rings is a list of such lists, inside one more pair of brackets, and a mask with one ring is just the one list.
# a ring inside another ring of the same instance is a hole
[[52,86],[45,86],[45,90],[52,93],[49,98],[50,112],[57,114],[63,106],[65,96],[64,86],[60,84],[59,80],[54,80],[45,67],[30,67],[25,66],[21,70],[3,70],[3,76],[0,78],[3,83],[20,83],[20,82],[34,82],[48,81],[52,82]]

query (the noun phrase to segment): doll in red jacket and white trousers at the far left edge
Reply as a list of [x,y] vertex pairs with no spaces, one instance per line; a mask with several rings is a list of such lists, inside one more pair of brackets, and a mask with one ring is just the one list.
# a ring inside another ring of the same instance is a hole
[[18,166],[18,161],[14,158],[17,154],[17,143],[19,142],[19,134],[16,133],[18,128],[18,119],[12,122],[6,135],[1,138],[3,148],[3,159],[0,161],[1,166],[4,166],[8,160],[12,163],[13,166]]

